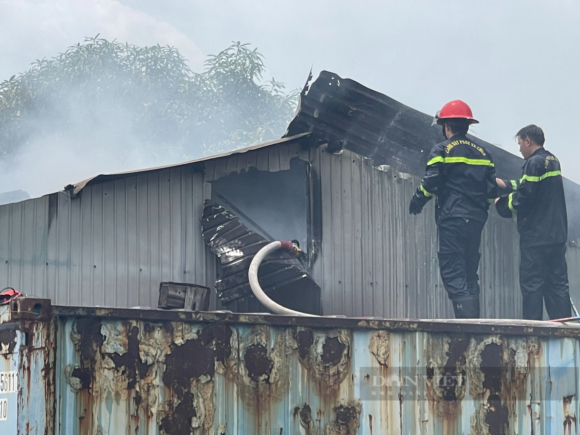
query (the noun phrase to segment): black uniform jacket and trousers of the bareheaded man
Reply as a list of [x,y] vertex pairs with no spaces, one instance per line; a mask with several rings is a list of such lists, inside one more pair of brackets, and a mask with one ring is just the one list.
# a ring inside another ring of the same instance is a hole
[[520,180],[504,180],[512,192],[496,203],[499,215],[517,216],[523,316],[542,320],[570,317],[565,259],[568,222],[560,162],[543,147],[525,161]]

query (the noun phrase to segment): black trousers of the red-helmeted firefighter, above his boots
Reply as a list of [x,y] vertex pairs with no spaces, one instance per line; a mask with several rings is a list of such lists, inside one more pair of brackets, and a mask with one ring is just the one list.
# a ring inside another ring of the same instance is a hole
[[479,297],[479,246],[485,222],[447,218],[437,224],[439,270],[449,299]]

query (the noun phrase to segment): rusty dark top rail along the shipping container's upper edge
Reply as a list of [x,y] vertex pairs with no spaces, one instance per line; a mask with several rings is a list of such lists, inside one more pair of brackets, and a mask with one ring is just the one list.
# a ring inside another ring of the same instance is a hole
[[[220,311],[167,311],[103,307],[53,306],[53,316],[97,317],[147,321],[187,321],[201,323],[228,323],[270,325],[278,327],[340,328],[340,329],[386,329],[394,332],[440,332],[462,334],[501,334],[517,336],[555,336],[580,338],[580,325],[537,325],[538,322],[502,323],[462,322],[454,320],[425,321],[412,319],[377,319],[353,317],[299,317],[275,316],[273,314],[245,314]],[[521,322],[521,321],[518,321]]]

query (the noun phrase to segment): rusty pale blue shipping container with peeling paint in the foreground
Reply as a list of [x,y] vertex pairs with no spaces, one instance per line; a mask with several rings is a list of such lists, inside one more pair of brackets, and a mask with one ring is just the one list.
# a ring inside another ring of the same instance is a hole
[[1,434],[574,434],[580,325],[0,311]]

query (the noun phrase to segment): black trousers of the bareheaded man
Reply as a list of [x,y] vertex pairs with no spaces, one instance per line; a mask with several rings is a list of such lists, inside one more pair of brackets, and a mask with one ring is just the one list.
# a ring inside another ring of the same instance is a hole
[[550,319],[571,317],[566,244],[521,248],[520,253],[524,319],[542,320],[544,303]]

